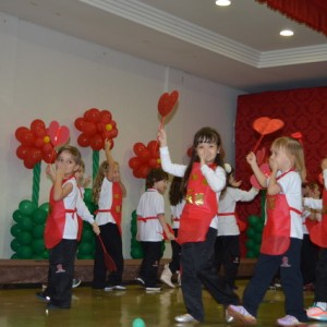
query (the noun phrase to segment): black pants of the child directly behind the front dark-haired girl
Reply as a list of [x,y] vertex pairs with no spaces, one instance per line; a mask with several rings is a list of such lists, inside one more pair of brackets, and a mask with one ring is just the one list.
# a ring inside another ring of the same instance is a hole
[[217,237],[215,243],[216,267],[223,268],[223,277],[231,288],[235,288],[235,279],[240,266],[239,235]]

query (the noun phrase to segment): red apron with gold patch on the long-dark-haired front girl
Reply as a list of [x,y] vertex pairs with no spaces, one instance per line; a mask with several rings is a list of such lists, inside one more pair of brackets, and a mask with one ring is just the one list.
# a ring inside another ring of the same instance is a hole
[[217,211],[217,194],[204,178],[199,162],[194,162],[187,184],[185,206],[180,219],[179,243],[205,241]]

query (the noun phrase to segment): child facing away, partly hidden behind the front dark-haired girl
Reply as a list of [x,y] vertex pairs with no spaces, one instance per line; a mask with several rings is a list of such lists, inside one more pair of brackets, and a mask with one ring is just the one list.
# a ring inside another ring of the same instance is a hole
[[242,181],[235,181],[234,169],[225,164],[227,172],[227,187],[221,192],[218,209],[218,237],[215,243],[215,258],[218,271],[223,267],[223,276],[232,289],[237,289],[235,279],[240,266],[240,228],[238,225],[235,206],[239,201],[250,202],[258,190],[239,189]]

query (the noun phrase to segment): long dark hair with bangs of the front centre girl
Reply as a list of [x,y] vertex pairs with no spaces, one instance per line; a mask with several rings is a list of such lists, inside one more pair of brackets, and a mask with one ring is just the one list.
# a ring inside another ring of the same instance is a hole
[[189,179],[190,179],[190,174],[192,171],[192,167],[194,162],[199,162],[199,158],[196,154],[196,147],[198,144],[201,143],[216,143],[216,145],[218,146],[218,153],[217,156],[215,158],[215,164],[217,166],[221,166],[223,167],[223,158],[225,158],[225,150],[222,148],[222,144],[221,144],[221,137],[219,135],[219,133],[211,129],[211,128],[202,128],[199,131],[197,131],[194,135],[194,140],[193,140],[193,145],[192,145],[192,155],[191,155],[191,160],[190,164],[185,170],[185,174],[182,181],[182,190],[183,190],[183,194],[186,194],[186,189],[187,189],[187,183],[189,183]]

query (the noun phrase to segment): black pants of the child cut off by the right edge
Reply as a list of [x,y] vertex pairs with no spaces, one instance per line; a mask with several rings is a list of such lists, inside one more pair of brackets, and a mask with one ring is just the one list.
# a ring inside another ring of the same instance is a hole
[[316,269],[315,302],[327,302],[327,249],[323,247]]

